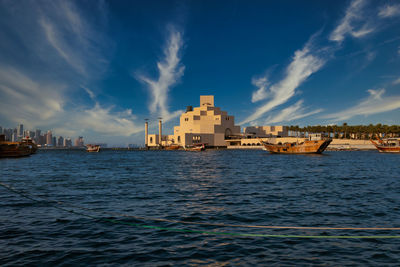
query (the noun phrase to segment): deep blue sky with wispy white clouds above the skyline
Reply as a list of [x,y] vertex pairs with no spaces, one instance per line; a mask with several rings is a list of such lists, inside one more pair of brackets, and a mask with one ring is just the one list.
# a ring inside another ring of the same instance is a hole
[[142,144],[200,95],[242,127],[400,124],[400,1],[0,0],[0,126]]

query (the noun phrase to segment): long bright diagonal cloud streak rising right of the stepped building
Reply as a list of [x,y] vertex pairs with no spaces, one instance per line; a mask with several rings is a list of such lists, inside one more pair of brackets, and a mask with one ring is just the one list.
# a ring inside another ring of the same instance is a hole
[[296,89],[307,80],[313,73],[325,64],[325,60],[311,52],[311,41],[302,50],[297,50],[292,62],[286,68],[285,77],[265,90],[264,94],[270,98],[261,107],[247,117],[240,124],[249,123],[259,119],[266,112],[286,103],[295,95]]

